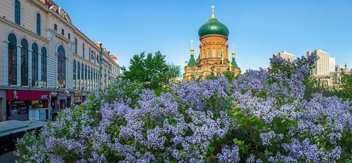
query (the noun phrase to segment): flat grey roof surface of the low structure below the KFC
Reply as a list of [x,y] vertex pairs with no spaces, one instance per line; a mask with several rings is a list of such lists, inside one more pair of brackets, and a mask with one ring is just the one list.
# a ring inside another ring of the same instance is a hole
[[38,127],[42,127],[43,122],[36,120],[7,120],[0,122],[0,136],[6,136]]

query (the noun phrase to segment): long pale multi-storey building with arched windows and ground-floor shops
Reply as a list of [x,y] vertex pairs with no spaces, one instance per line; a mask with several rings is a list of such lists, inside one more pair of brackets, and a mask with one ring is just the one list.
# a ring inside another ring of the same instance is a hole
[[52,1],[0,1],[0,16],[0,121],[26,120],[33,108],[69,108],[119,75],[103,44]]

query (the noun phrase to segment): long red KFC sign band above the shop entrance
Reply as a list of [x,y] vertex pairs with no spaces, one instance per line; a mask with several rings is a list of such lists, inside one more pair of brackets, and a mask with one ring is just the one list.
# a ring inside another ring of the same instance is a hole
[[25,90],[7,90],[6,91],[6,100],[8,101],[47,100],[47,99],[49,99],[49,91],[25,91]]

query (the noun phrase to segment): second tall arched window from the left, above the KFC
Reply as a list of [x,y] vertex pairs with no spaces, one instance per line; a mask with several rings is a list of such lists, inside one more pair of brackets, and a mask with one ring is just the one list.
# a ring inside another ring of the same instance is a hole
[[21,40],[21,85],[28,86],[28,42]]

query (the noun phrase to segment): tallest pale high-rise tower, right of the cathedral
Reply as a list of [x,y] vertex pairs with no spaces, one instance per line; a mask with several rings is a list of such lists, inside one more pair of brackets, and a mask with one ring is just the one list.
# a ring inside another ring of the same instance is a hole
[[317,55],[318,60],[315,62],[315,68],[312,70],[313,75],[330,75],[330,54],[320,49],[312,52],[306,52],[306,57]]

